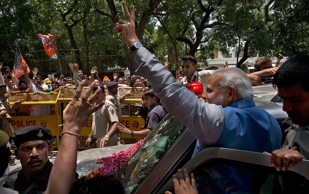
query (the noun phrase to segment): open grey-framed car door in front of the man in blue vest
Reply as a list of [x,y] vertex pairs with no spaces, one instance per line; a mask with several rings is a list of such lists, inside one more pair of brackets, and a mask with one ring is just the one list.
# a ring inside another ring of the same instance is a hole
[[[199,193],[308,193],[308,165],[302,160],[286,172],[277,172],[268,154],[207,148],[183,168],[194,174]],[[173,192],[172,179],[157,193],[165,191]]]

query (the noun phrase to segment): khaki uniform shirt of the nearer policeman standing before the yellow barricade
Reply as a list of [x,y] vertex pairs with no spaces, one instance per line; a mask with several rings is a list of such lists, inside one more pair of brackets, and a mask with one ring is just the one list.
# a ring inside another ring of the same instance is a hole
[[[106,133],[112,127],[112,123],[119,121],[116,114],[116,107],[114,106],[114,104],[106,98],[104,99],[104,101],[105,104],[103,105],[103,107],[92,113],[92,135],[95,138],[106,135]],[[117,135],[115,134],[110,137],[108,143],[110,143],[111,140],[115,139],[114,136],[117,139]]]

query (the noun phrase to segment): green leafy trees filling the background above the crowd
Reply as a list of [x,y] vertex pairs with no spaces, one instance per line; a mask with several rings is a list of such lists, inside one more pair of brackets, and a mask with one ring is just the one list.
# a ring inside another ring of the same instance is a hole
[[[238,66],[247,58],[307,54],[309,5],[304,0],[138,0],[136,33],[142,44],[160,60],[173,51],[178,62],[185,54],[199,61],[217,51],[236,51]],[[137,69],[121,34],[112,32],[124,18],[121,1],[113,0],[2,0],[0,2],[0,62],[11,69],[16,43],[31,69],[60,74],[37,34],[56,37],[62,71],[78,63],[89,74],[97,66]],[[170,57],[170,56],[169,56]]]

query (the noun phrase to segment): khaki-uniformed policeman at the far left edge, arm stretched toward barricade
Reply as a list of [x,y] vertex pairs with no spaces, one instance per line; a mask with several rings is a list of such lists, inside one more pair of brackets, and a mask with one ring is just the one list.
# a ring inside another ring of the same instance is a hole
[[0,84],[0,130],[5,131],[8,135],[10,132],[11,115],[10,111],[22,103],[23,100],[16,101],[10,106],[9,99],[6,94],[6,84]]

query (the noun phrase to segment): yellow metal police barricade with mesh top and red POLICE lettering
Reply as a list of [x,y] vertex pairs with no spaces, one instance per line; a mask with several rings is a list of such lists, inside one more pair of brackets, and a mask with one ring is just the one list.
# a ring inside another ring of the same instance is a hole
[[[17,100],[23,99],[24,102],[20,104],[15,110],[11,111],[12,120],[11,124],[14,130],[18,130],[21,127],[27,127],[32,125],[41,125],[43,127],[49,128],[52,135],[57,139],[57,148],[59,148],[59,140],[62,132],[62,111],[65,109],[66,105],[73,98],[75,87],[64,88],[58,93],[41,93],[41,94],[17,94],[8,95],[10,104],[13,104]],[[84,87],[81,93],[83,96],[84,92],[88,87]],[[132,105],[131,103],[141,104],[142,103],[142,93],[145,91],[146,87],[119,87],[118,95],[121,96],[125,94],[127,90],[132,90],[131,95],[121,101],[121,121],[125,127],[133,131],[142,130],[140,127],[145,125],[144,119],[140,116],[135,116],[135,112],[138,111],[138,107]],[[106,95],[108,91],[106,90]],[[81,98],[80,96],[80,98]],[[85,142],[88,135],[91,132],[92,127],[92,116],[87,120],[86,124],[80,132],[79,148],[89,148],[85,147]],[[11,135],[11,134],[10,134]],[[139,139],[138,137],[132,137],[131,135],[125,135],[120,133],[119,138],[122,143],[136,143]],[[55,141],[54,141],[55,142]],[[96,148],[96,143],[94,143],[91,148]]]

